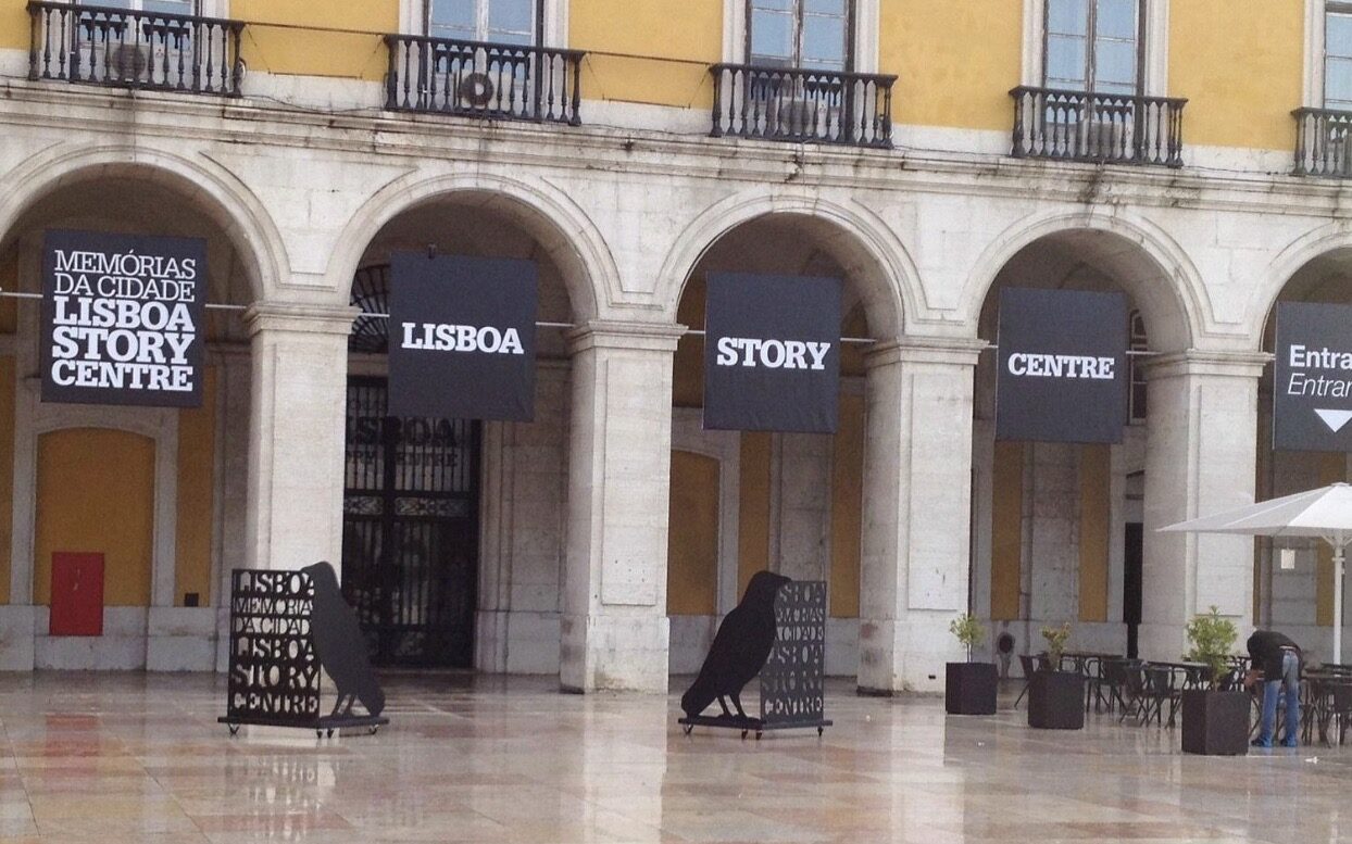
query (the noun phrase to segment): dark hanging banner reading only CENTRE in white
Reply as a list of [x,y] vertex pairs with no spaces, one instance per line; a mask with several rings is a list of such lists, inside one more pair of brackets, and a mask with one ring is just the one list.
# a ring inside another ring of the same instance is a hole
[[1002,289],[996,439],[1121,443],[1126,319],[1121,293]]

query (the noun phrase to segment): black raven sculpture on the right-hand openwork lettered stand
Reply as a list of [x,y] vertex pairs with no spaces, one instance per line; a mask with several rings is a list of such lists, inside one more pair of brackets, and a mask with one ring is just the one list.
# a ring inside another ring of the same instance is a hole
[[727,702],[723,697],[733,700],[737,716],[746,720],[742,709],[742,687],[753,677],[760,674],[769,659],[769,651],[775,647],[775,594],[779,587],[788,583],[790,578],[769,571],[757,571],[752,575],[742,602],[727,613],[723,623],[718,625],[714,635],[714,644],[708,648],[708,656],[699,668],[695,683],[680,698],[680,708],[685,716],[694,718],[704,712],[704,708],[718,700],[723,708],[723,717],[731,718]]

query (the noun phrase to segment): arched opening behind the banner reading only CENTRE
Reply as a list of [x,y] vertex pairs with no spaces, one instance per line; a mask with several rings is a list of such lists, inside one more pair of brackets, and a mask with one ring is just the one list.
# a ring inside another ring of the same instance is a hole
[[990,623],[988,654],[1003,633],[1014,637],[1015,654],[1042,651],[1041,628],[1069,621],[1072,648],[1136,655],[1149,593],[1142,585],[1171,577],[1145,564],[1153,420],[1146,371],[1153,355],[1187,346],[1176,285],[1142,246],[1072,228],[1018,248],[987,290],[979,332],[991,346],[1005,288],[1124,293],[1130,370],[1121,443],[996,440],[996,354],[982,355],[972,428],[971,604]]

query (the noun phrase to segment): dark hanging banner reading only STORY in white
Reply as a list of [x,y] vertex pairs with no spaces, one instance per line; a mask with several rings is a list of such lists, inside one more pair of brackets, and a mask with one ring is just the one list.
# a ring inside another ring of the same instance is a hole
[[836,431],[838,280],[715,273],[706,308],[706,428]]

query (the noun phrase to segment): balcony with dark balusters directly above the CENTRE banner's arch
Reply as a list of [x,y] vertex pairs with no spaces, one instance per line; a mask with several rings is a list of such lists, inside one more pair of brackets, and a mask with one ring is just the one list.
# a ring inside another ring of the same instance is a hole
[[1178,97],[1015,88],[1014,158],[1183,166]]

